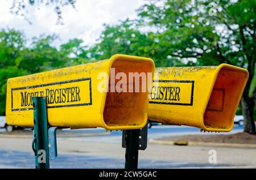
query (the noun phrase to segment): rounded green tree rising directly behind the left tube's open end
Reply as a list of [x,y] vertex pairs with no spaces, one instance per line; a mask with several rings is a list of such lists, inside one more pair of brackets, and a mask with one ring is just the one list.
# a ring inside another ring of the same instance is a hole
[[105,25],[98,43],[88,50],[91,59],[107,59],[113,54],[130,54],[142,57],[151,57],[157,66],[181,66],[176,57],[172,61],[164,54],[165,48],[159,44],[161,35],[153,32],[142,32],[129,19],[118,25]]

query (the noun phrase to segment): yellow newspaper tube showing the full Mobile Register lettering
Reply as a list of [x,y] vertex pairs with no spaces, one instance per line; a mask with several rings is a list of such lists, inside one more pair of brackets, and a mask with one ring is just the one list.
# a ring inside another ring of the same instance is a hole
[[[106,130],[144,127],[148,91],[107,92],[108,87],[118,82],[110,83],[110,68],[115,68],[115,74],[122,72],[127,77],[129,72],[152,74],[155,71],[150,58],[116,54],[96,63],[11,78],[7,82],[7,124],[34,126],[32,97],[38,96],[46,97],[47,118],[51,126],[103,127]],[[142,81],[139,83],[141,85]],[[99,91],[99,88],[105,90]]]

